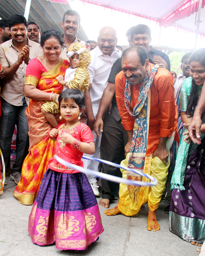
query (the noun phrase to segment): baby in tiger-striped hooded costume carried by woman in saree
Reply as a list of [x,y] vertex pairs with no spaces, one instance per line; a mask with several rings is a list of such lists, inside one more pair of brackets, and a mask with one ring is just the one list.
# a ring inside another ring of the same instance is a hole
[[[66,88],[79,89],[85,94],[90,85],[90,74],[88,72],[88,66],[91,63],[90,52],[86,49],[83,41],[72,43],[67,50],[71,67],[66,69],[65,80],[62,75],[57,76],[56,80],[63,85],[63,90],[66,90]],[[41,106],[41,112],[54,128],[58,126],[54,114],[59,112],[59,105],[55,100],[44,103]]]

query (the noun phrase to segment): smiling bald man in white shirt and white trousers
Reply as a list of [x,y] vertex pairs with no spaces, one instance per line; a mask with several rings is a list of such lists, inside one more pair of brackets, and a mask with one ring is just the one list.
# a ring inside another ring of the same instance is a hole
[[[97,40],[98,46],[91,51],[91,64],[88,67],[91,83],[90,83],[90,97],[92,102],[91,106],[86,104],[87,116],[96,118],[100,99],[108,84],[108,77],[114,62],[121,57],[122,52],[118,50],[116,31],[111,27],[103,27],[99,31],[99,37]],[[92,113],[93,111],[93,113]],[[95,142],[95,153],[93,157],[100,158],[100,141],[101,132],[99,131],[99,137],[93,132]],[[98,162],[84,161],[84,167],[97,171]],[[93,188],[95,196],[99,196],[97,180],[95,176],[88,176],[88,180]]]

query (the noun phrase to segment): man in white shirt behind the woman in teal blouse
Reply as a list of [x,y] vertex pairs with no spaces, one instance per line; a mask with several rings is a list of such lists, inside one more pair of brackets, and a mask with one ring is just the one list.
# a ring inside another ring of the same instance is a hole
[[[184,80],[190,76],[189,75],[189,72],[190,72],[189,59],[190,59],[191,54],[192,54],[191,52],[188,52],[188,53],[184,54],[183,57],[181,58],[181,70],[182,70],[182,72],[180,72],[177,76],[176,76],[176,73],[173,74],[173,77],[174,77],[174,96],[175,96],[175,98],[176,98],[177,91],[178,91],[180,85],[182,85]],[[175,79],[176,79],[176,82],[175,82]]]

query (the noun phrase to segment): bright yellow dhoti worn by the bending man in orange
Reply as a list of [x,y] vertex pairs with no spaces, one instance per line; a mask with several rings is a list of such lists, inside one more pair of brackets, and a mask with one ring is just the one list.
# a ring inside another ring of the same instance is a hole
[[[121,165],[128,166],[129,154],[127,154],[126,159],[121,162]],[[131,201],[129,197],[129,192],[126,184],[120,184],[119,190],[119,203],[118,208],[120,212],[126,216],[132,216],[139,212],[142,204],[148,201],[149,210],[155,212],[159,206],[162,194],[165,190],[165,184],[168,175],[169,158],[167,164],[158,158],[152,158],[152,154],[147,156],[145,159],[144,172],[158,181],[158,185],[152,187],[141,187],[138,203],[135,204]],[[122,172],[122,177],[127,178],[126,170],[120,169]],[[148,178],[143,177],[142,181],[150,181]]]

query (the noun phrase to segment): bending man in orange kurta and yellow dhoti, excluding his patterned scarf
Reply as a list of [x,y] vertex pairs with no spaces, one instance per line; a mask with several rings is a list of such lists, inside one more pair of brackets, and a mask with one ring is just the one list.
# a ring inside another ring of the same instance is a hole
[[[147,51],[139,47],[128,48],[122,56],[122,71],[115,77],[116,99],[122,124],[128,134],[128,143],[125,146],[126,154],[130,152],[133,129],[135,122],[125,107],[125,84],[126,80],[131,84],[131,110],[134,109],[141,86],[147,71],[154,66],[149,63]],[[149,90],[150,112],[148,114],[148,139],[144,173],[155,177],[159,184],[151,188],[141,188],[138,202],[131,202],[126,186],[119,192],[120,201],[117,207],[106,210],[104,213],[116,215],[136,214],[140,206],[148,201],[149,214],[147,229],[157,231],[160,229],[156,221],[156,210],[159,206],[163,191],[165,189],[166,177],[169,166],[169,151],[167,139],[172,137],[178,140],[177,133],[177,109],[174,97],[173,77],[165,68],[156,71]],[[174,132],[176,133],[174,134]],[[171,139],[171,138],[170,138]],[[146,169],[146,170],[145,170]],[[124,175],[123,175],[124,176]],[[143,179],[142,179],[143,180]],[[123,191],[124,190],[124,191]],[[136,205],[138,204],[138,205]]]

